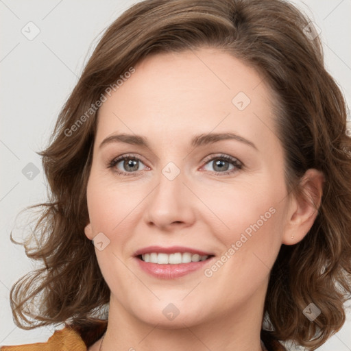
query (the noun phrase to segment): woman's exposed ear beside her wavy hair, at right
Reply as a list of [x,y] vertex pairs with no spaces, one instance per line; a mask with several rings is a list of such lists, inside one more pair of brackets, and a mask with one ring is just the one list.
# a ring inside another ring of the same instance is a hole
[[298,243],[313,226],[321,204],[324,182],[323,173],[317,169],[308,169],[304,173],[299,184],[302,193],[291,198],[283,244]]

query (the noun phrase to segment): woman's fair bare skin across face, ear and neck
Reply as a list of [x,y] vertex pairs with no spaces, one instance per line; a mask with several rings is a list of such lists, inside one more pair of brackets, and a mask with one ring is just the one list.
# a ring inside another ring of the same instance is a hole
[[[323,175],[310,169],[302,180],[313,202],[288,195],[272,95],[261,75],[237,58],[202,48],[148,56],[135,69],[99,109],[87,188],[86,237],[103,232],[110,240],[104,250],[95,248],[111,290],[102,350],[262,350],[269,271],[280,246],[298,243],[311,228]],[[251,100],[242,111],[232,104],[239,92]],[[238,134],[256,149],[237,140],[190,145],[193,136],[209,132]],[[149,147],[100,147],[121,133],[144,136]],[[123,162],[108,168],[123,154],[141,159],[135,176],[116,172],[126,171]],[[222,175],[206,159],[219,154],[243,168],[225,164],[234,171]],[[162,174],[168,162],[180,170],[174,180]],[[134,258],[149,245],[194,247],[221,258],[269,208],[274,215],[210,278],[199,269],[162,280]],[[169,303],[179,310],[173,320],[162,313]]]

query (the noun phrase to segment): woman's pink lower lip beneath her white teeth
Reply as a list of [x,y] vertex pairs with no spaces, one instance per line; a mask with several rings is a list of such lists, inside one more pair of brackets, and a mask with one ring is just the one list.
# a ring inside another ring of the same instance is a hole
[[158,263],[145,262],[137,257],[135,259],[138,261],[139,267],[148,274],[160,279],[175,279],[201,269],[212,258],[199,262],[180,263],[179,265],[158,265]]

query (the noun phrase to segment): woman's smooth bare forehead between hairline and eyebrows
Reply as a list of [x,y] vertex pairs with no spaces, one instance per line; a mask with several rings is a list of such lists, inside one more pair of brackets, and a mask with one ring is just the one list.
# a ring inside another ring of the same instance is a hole
[[[99,109],[97,139],[114,132],[157,136],[223,132],[271,134],[271,94],[263,77],[229,53],[158,53],[134,67]],[[162,135],[160,131],[162,130]],[[155,135],[153,134],[155,132]]]

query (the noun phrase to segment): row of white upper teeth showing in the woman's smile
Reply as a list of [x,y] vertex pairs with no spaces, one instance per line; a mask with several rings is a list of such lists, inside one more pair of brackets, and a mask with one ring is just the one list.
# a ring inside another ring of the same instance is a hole
[[142,254],[141,258],[145,262],[158,263],[158,265],[180,265],[180,263],[205,261],[208,256],[200,256],[190,252],[176,252],[175,254],[151,252],[150,254]]

